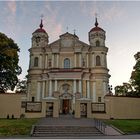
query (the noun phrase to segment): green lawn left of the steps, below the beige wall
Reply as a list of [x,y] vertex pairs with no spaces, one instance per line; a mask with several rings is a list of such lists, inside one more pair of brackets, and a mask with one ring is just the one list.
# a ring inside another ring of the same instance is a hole
[[0,119],[0,136],[29,135],[38,119]]

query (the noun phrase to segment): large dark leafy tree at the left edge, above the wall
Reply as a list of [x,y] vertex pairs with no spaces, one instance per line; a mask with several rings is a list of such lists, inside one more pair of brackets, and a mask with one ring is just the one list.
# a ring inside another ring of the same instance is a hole
[[0,33],[0,92],[14,90],[18,82],[17,76],[21,74],[18,52],[18,45]]

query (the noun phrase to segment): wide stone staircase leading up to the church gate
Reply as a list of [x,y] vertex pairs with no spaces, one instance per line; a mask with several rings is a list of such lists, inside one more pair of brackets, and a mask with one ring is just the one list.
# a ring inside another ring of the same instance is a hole
[[48,126],[35,125],[32,128],[31,136],[48,138],[88,138],[102,136],[103,134],[94,126]]

